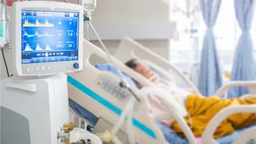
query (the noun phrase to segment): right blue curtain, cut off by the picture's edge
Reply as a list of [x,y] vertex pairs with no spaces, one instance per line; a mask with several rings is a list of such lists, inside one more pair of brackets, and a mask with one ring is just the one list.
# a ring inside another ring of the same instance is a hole
[[[256,62],[250,35],[255,0],[234,0],[234,4],[236,18],[239,27],[242,29],[242,35],[236,47],[230,79],[231,81],[255,81]],[[247,93],[246,87],[234,87],[228,91],[228,98],[241,97]]]

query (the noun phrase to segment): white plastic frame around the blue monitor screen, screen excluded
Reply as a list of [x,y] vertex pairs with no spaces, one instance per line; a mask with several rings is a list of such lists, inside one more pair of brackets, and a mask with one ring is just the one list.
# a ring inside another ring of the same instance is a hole
[[[63,8],[67,7],[67,8]],[[57,62],[43,62],[43,63],[21,63],[21,17],[22,11],[49,11],[49,12],[78,12],[78,60],[73,61],[57,61]],[[12,61],[14,74],[19,76],[22,75],[49,75],[58,73],[68,73],[72,71],[83,69],[83,6],[70,4],[70,3],[60,3],[60,2],[39,2],[39,1],[29,1],[29,2],[15,2],[12,6]],[[70,63],[79,63],[78,69],[65,69]],[[43,71],[42,73],[36,73],[35,71],[30,71],[26,73],[25,67],[59,67],[55,70]],[[65,68],[62,68],[65,67]]]

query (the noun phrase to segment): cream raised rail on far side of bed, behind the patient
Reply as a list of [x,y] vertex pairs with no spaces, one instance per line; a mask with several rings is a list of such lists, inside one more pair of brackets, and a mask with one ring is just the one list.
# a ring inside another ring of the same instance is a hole
[[[135,55],[135,53],[140,53],[140,55]],[[182,79],[182,81],[184,81],[189,87],[191,87],[193,91],[200,94],[196,86],[189,80],[188,77],[186,77],[183,74],[180,68],[172,65],[168,60],[161,57],[161,55],[158,55],[153,51],[150,51],[145,46],[139,44],[138,42],[135,42],[133,39],[125,37],[117,47],[114,57],[121,60],[122,62],[125,62],[127,60],[134,58],[134,56],[136,58],[140,58],[141,60],[145,59],[150,60],[151,62],[154,61],[154,63],[156,63],[157,66],[173,71]],[[169,76],[167,77],[172,77],[171,73],[168,75]]]

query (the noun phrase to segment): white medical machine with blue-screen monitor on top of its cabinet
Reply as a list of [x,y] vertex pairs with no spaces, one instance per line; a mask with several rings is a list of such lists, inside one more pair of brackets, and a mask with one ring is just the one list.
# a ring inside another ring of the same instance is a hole
[[58,134],[69,123],[64,73],[83,69],[83,15],[83,6],[70,3],[13,3],[1,143],[68,143]]

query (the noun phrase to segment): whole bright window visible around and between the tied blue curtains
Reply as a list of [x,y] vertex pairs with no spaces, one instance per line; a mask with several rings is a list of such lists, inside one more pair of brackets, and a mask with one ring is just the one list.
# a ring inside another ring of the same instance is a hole
[[[186,3],[188,1],[179,1],[179,6],[183,6],[185,10]],[[173,1],[171,1],[173,2]],[[176,2],[176,1],[174,1]],[[173,2],[173,3],[174,3]],[[178,2],[177,2],[178,3]],[[197,1],[190,1],[193,6],[197,5]],[[170,3],[170,9],[173,9],[173,4]],[[184,55],[183,61],[198,61],[200,51],[203,47],[203,37],[205,34],[206,26],[202,18],[201,12],[194,13],[193,17],[187,19],[185,15],[180,12],[173,12],[170,10],[170,19],[177,21],[179,28],[177,29],[180,37],[178,41],[170,40],[170,60],[180,61],[181,58],[175,57],[176,55]],[[186,33],[186,29],[193,27],[198,29],[198,33],[190,38],[190,34]],[[251,28],[251,37],[254,45],[254,51],[256,53],[256,10],[254,11],[253,23]],[[219,51],[220,59],[223,63],[230,63],[233,60],[233,55],[238,43],[238,39],[241,36],[241,29],[238,26],[235,10],[234,0],[222,1],[219,15],[214,27],[214,35],[216,38],[217,49]],[[188,57],[187,53],[193,54],[193,57]],[[178,54],[177,54],[178,53]],[[179,56],[181,57],[181,56]],[[174,60],[175,59],[175,60]]]

